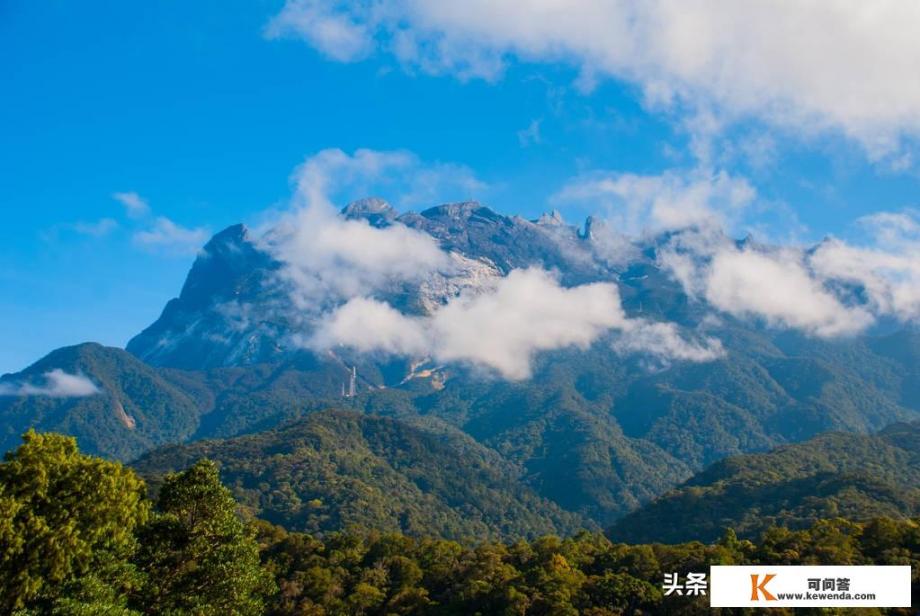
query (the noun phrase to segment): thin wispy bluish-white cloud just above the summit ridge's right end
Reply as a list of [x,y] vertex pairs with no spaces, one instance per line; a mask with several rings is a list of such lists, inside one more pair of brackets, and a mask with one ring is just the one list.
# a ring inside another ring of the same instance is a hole
[[599,171],[571,180],[551,200],[599,209],[614,229],[638,236],[690,226],[732,226],[756,194],[746,179],[724,171],[661,175]]

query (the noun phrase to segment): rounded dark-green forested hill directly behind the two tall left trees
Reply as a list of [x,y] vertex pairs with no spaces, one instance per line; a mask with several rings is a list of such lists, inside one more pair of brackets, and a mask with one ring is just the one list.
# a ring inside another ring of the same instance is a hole
[[586,523],[525,488],[520,469],[456,432],[434,433],[346,411],[276,430],[153,451],[146,476],[219,462],[237,498],[287,528],[350,524],[482,540],[570,533]]

